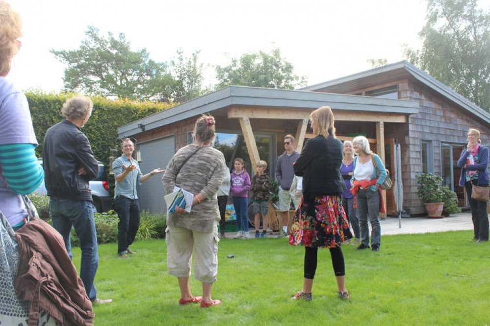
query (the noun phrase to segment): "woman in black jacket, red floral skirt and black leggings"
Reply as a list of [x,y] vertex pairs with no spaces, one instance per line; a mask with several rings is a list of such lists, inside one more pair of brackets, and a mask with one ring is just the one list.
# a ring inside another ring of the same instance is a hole
[[303,290],[291,299],[311,300],[318,248],[329,248],[338,297],[348,299],[345,263],[340,245],[352,234],[342,207],[345,184],[340,175],[342,143],[335,138],[334,114],[323,106],[309,116],[313,133],[294,164],[294,173],[303,176],[303,201],[296,211],[289,244],[305,247]]

